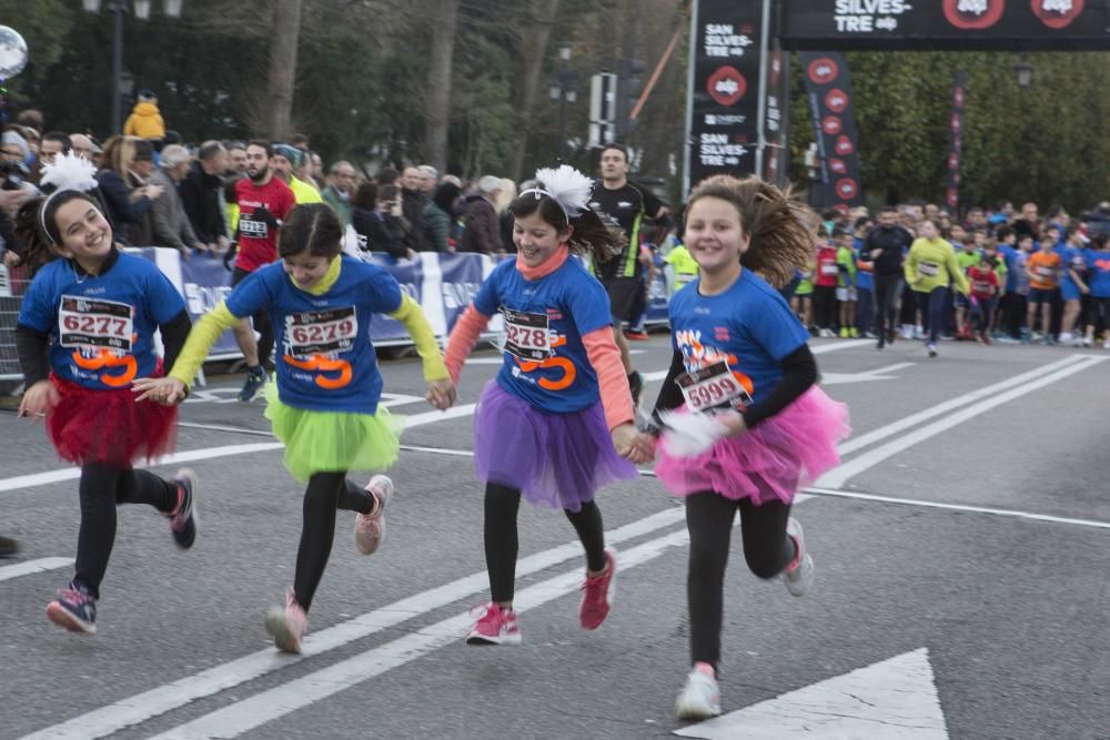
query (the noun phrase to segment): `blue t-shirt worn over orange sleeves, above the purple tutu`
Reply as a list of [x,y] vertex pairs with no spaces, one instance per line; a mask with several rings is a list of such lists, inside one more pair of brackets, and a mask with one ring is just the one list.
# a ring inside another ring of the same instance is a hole
[[597,374],[582,337],[612,325],[609,296],[577,260],[535,281],[505,260],[482,283],[474,308],[505,317],[505,362],[497,374],[503,389],[549,414],[598,403]]

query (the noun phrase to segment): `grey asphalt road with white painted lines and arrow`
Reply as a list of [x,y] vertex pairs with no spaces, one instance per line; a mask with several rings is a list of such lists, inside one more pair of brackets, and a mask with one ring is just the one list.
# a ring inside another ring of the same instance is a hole
[[[634,346],[662,377],[665,335]],[[274,650],[263,617],[292,581],[302,491],[261,402],[233,401],[239,378],[182,408],[195,547],[178,551],[151,510],[121,509],[91,637],[43,614],[71,575],[75,470],[41,427],[0,413],[0,534],[23,545],[0,560],[0,738],[1110,737],[1110,353],[813,346],[854,426],[844,465],[796,506],[817,582],[793,598],[734,548],[730,716],[716,723],[674,719],[687,544],[680,506],[649,475],[598,497],[622,562],[599,630],[577,625],[569,525],[522,507],[524,642],[463,643],[487,587],[467,455],[470,405],[496,372],[484,352],[448,415],[424,404],[415,359],[383,363],[392,410],[415,424],[387,537],[359,555],[341,513],[299,658]]]

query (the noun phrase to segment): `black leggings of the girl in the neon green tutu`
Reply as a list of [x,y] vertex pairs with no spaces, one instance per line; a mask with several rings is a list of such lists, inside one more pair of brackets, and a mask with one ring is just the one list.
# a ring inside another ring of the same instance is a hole
[[345,472],[314,473],[309,478],[309,487],[304,491],[301,546],[296,550],[296,575],[293,577],[293,591],[302,609],[307,611],[312,606],[312,597],[332,554],[335,510],[370,514],[373,508],[374,496],[347,480]]

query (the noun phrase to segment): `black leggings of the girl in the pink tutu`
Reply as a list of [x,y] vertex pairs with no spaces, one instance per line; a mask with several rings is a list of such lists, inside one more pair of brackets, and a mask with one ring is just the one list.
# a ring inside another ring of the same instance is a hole
[[[774,494],[769,494],[774,496]],[[789,504],[777,498],[761,506],[750,499],[734,501],[705,491],[686,498],[686,527],[690,559],[686,598],[690,610],[690,659],[717,669],[720,662],[720,620],[724,611],[725,566],[731,544],[733,520],[740,510],[740,536],[748,569],[759,578],[774,578],[795,556],[786,534]]]

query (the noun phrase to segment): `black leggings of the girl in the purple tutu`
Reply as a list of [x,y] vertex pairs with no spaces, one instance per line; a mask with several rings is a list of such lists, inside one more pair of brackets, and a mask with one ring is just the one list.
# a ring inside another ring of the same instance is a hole
[[[490,571],[490,594],[494,604],[513,600],[516,581],[516,514],[521,508],[521,491],[496,483],[486,484],[485,550]],[[582,546],[586,548],[586,568],[595,572],[605,569],[605,528],[602,510],[588,501],[581,511],[564,509]]]

